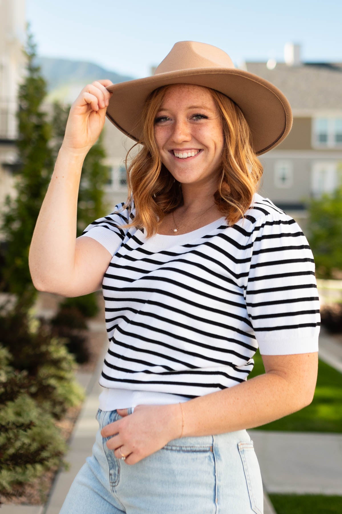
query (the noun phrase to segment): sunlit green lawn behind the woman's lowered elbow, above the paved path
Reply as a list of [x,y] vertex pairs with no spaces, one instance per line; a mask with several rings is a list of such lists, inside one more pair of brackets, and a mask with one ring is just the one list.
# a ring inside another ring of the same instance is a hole
[[[254,368],[253,371],[249,374],[248,380],[257,375],[263,375],[265,373],[259,348],[253,358]],[[272,421],[272,423],[262,425],[261,427],[255,427],[253,430],[258,429],[341,433],[342,374],[329,366],[329,364],[326,364],[325,362],[318,359],[318,377],[312,403],[300,411],[289,414],[288,416],[285,416],[281,419]],[[303,511],[298,510],[298,512]],[[326,512],[330,512],[330,510],[326,510]],[[337,510],[331,510],[331,512],[337,512]],[[340,508],[339,512],[342,512],[342,507]]]

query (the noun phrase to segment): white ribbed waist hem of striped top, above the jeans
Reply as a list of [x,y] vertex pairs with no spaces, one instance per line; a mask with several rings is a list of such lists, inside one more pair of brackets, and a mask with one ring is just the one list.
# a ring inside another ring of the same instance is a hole
[[184,402],[189,399],[178,394],[155,391],[104,388],[99,396],[99,408],[102,411],[114,411],[136,407],[137,405],[168,405],[169,403]]

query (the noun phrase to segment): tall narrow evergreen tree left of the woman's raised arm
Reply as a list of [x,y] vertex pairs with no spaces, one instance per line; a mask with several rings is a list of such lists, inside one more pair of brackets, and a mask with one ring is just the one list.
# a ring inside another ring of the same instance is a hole
[[[28,24],[29,25],[29,24]],[[28,34],[27,74],[18,91],[18,138],[16,141],[18,160],[16,197],[5,199],[0,231],[5,236],[4,268],[0,290],[16,295],[17,301],[29,308],[36,298],[28,266],[31,238],[50,177],[53,157],[49,148],[51,124],[47,113],[41,110],[46,96],[46,81],[41,76],[40,66],[34,65],[36,45]]]

